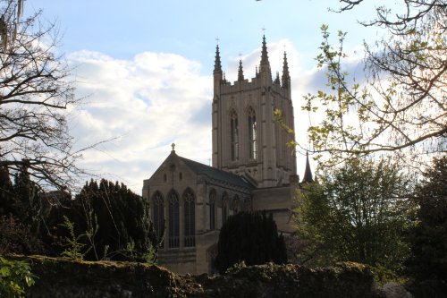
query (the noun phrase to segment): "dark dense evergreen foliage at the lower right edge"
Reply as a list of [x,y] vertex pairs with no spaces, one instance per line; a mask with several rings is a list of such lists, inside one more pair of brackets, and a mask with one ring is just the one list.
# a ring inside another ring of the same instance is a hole
[[[416,188],[417,225],[409,233],[409,271],[418,282],[433,281],[447,293],[447,157],[434,159]],[[421,287],[418,285],[417,287]],[[427,287],[434,287],[428,285]],[[426,287],[424,287],[427,290]],[[426,297],[438,297],[427,292]]]

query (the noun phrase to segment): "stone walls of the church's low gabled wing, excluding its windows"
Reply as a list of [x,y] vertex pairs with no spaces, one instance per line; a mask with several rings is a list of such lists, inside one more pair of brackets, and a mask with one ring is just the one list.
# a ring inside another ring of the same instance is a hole
[[[195,247],[184,247],[184,206],[182,194],[190,188],[195,196]],[[169,248],[169,218],[168,218],[168,194],[174,190],[180,198],[179,221],[180,221],[180,247]],[[209,194],[216,194],[216,221],[215,229],[210,230],[210,205]],[[235,197],[239,198],[242,206],[251,208],[251,194],[249,190],[241,189],[234,185],[226,185],[210,180],[205,175],[196,175],[175,154],[171,154],[164,163],[156,170],[156,173],[144,181],[143,197],[153,205],[153,196],[160,192],[164,198],[164,247],[159,249],[159,264],[174,272],[181,274],[201,274],[210,272],[211,261],[215,258],[216,243],[219,231],[223,225],[223,195],[228,196],[227,216],[233,214],[232,202]],[[151,209],[151,217],[152,217]]]

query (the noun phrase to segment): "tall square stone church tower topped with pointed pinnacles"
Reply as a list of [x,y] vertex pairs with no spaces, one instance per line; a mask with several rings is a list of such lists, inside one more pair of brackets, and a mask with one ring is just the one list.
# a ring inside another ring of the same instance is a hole
[[256,77],[246,80],[240,61],[238,80],[232,84],[224,78],[217,46],[212,108],[214,167],[247,176],[257,188],[289,183],[290,175],[296,175],[296,158],[286,143],[294,140],[294,135],[274,122],[274,109],[278,108],[287,125],[294,126],[285,53],[282,79],[276,72],[273,80],[263,37]]

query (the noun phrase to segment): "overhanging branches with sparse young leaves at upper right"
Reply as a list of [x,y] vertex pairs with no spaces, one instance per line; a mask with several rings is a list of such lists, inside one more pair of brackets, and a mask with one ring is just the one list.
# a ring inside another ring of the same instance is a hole
[[[341,0],[339,12],[364,1]],[[379,6],[375,20],[361,22],[384,30],[375,46],[365,43],[366,81],[343,69],[346,33],[338,33],[334,47],[322,26],[316,60],[327,70],[328,89],[309,94],[303,108],[324,113],[308,136],[317,153],[329,153],[326,165],[375,152],[421,160],[446,150],[447,4],[401,0],[394,7]]]

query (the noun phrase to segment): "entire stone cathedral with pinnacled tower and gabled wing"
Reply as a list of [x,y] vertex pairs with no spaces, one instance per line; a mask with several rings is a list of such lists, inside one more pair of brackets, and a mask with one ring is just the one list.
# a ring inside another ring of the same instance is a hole
[[[278,108],[294,126],[286,53],[281,78],[279,72],[273,78],[264,36],[255,77],[245,79],[240,61],[232,83],[225,79],[217,46],[213,74],[212,166],[178,156],[173,145],[143,183],[156,233],[164,236],[158,262],[181,274],[214,272],[220,228],[240,211],[266,210],[280,232],[294,231],[291,209],[299,176],[286,144],[295,136],[274,122]],[[312,181],[308,160],[303,181]]]

